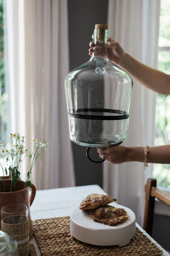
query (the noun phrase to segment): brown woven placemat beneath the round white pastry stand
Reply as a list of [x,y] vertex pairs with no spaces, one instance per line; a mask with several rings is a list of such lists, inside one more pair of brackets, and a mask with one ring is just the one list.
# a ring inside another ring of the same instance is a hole
[[33,231],[42,256],[50,255],[161,255],[163,252],[136,228],[135,236],[124,247],[95,246],[70,235],[70,217],[33,220]]

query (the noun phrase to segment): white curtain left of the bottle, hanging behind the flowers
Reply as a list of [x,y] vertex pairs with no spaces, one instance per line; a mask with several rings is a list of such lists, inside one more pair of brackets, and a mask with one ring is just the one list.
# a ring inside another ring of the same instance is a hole
[[33,170],[37,189],[74,185],[64,79],[69,72],[66,0],[7,0],[11,132],[44,138]]

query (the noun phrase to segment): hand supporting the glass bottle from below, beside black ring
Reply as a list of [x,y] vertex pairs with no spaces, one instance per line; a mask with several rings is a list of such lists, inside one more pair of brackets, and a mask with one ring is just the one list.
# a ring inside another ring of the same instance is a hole
[[97,148],[97,152],[99,153],[100,158],[104,158],[108,160],[108,162],[114,164],[128,162],[129,150],[130,149],[128,147],[120,145],[116,147]]

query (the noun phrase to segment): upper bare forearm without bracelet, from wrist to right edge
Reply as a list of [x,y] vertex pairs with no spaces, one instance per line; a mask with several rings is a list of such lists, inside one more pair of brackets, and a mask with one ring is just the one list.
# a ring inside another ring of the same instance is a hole
[[170,94],[170,76],[157,69],[146,66],[135,60],[128,53],[124,54],[121,61],[121,68],[131,77],[138,80],[148,89],[160,94]]

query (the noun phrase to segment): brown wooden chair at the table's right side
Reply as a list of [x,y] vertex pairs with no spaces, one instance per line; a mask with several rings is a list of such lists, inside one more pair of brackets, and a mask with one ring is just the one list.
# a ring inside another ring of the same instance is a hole
[[145,214],[143,229],[145,229],[150,236],[152,235],[152,225],[154,221],[155,198],[170,207],[170,195],[156,188],[156,179],[148,179],[145,185]]

